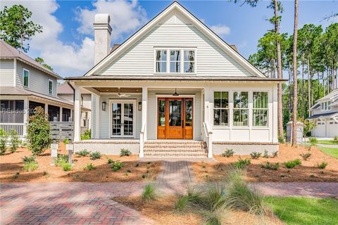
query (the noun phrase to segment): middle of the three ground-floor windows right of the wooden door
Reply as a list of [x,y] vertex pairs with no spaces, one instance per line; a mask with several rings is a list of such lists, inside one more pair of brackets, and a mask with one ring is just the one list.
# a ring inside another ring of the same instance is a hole
[[248,91],[234,91],[234,126],[248,126]]

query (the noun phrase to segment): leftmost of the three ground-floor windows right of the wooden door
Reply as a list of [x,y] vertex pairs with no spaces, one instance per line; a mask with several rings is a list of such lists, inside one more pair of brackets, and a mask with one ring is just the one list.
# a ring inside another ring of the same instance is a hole
[[213,93],[213,125],[229,125],[229,92],[227,91]]

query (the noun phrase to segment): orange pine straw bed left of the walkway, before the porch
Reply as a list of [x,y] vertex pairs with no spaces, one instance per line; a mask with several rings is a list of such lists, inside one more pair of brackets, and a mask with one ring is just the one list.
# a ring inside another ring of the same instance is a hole
[[[65,146],[61,144],[58,153],[68,154]],[[37,156],[39,168],[34,172],[24,172],[23,158],[32,153],[27,148],[19,148],[15,153],[7,151],[6,155],[0,156],[0,182],[129,182],[144,181],[142,174],[146,178],[156,178],[161,171],[161,162],[139,162],[138,155],[120,157],[119,155],[102,155],[101,159],[90,160],[89,156],[79,157],[73,155],[73,168],[65,172],[61,167],[51,166],[51,150],[46,150],[42,155]],[[120,160],[123,167],[117,172],[113,172],[108,165],[107,158]],[[84,167],[92,163],[97,168],[84,170]],[[135,167],[136,164],[138,167]],[[130,169],[130,172],[127,172]],[[147,173],[147,171],[149,171]],[[14,175],[19,172],[18,178]],[[127,174],[127,175],[126,175]]]

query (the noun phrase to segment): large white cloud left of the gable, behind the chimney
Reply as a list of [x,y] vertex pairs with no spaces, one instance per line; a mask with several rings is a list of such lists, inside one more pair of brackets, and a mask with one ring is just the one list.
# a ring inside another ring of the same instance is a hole
[[[78,44],[65,44],[58,39],[58,35],[63,32],[63,25],[53,15],[59,7],[56,1],[1,1],[0,8],[2,10],[4,6],[10,7],[14,4],[22,4],[27,7],[32,11],[32,20],[43,27],[43,32],[36,34],[30,41],[30,51],[28,52],[30,56],[32,56],[32,52],[37,53],[37,56],[44,58],[44,61],[63,77],[83,75],[89,68],[92,68],[94,65],[94,40],[91,37],[84,37]],[[116,15],[111,14],[111,18],[112,27],[115,28],[113,33],[117,36],[136,30],[145,20],[145,12],[137,4],[137,1],[132,1],[132,3],[98,1],[93,5],[95,7],[93,11],[77,8],[77,20],[81,22],[79,31],[83,34],[92,32],[94,14],[104,12],[104,8],[110,10],[106,11],[108,13],[116,13]],[[121,15],[121,13],[125,13],[125,15]],[[123,16],[123,18],[118,18],[119,16]],[[86,29],[88,32],[85,32]]]

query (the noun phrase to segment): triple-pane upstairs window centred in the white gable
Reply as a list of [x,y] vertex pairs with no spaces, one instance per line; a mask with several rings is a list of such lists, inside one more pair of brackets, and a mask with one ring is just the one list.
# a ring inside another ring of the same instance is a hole
[[189,49],[158,49],[155,51],[155,72],[194,73],[196,53]]

